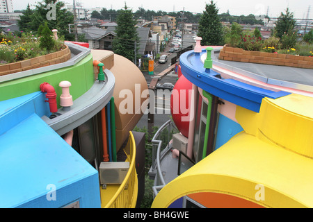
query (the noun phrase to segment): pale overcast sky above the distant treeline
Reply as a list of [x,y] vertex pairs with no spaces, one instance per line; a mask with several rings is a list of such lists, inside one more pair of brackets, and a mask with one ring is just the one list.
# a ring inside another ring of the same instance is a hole
[[[38,0],[13,0],[14,10],[25,9],[27,3],[35,5]],[[39,0],[40,1],[40,0]],[[63,0],[65,3],[72,4],[72,0]],[[129,8],[133,11],[138,10],[139,7],[145,10],[163,10],[166,12],[172,12],[185,10],[189,12],[202,12],[205,8],[205,4],[210,0],[76,0],[81,2],[84,8],[107,8],[107,9],[121,9],[125,2]],[[294,12],[294,17],[298,19],[305,19],[307,17],[307,11],[310,8],[309,18],[313,18],[313,4],[312,0],[214,0],[214,3],[218,6],[219,13],[227,12],[230,10],[230,15],[266,15],[278,17],[280,12],[289,7],[291,12]]]

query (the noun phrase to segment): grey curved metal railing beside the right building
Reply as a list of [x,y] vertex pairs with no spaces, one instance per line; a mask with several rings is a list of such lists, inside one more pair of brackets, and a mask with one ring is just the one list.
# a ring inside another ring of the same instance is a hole
[[156,174],[157,185],[166,185],[161,171],[161,160],[172,148],[172,135],[178,132],[179,130],[177,130],[174,123],[168,120],[152,138],[152,167],[150,169],[150,175],[153,173]]

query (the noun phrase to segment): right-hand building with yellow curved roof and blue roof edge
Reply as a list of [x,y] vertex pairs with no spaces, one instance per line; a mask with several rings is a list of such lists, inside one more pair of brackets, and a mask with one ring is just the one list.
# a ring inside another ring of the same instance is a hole
[[312,83],[269,83],[212,60],[222,47],[199,41],[177,66],[180,133],[161,146],[169,121],[152,139],[152,207],[313,207]]

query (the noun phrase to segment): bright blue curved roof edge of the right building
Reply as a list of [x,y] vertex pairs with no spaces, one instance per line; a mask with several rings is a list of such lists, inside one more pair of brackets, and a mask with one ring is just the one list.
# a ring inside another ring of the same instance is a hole
[[263,89],[232,78],[222,78],[216,71],[203,67],[201,56],[204,53],[206,50],[202,50],[202,53],[194,51],[183,53],[179,58],[182,74],[191,83],[215,96],[241,105],[248,110],[259,112],[264,97],[277,99],[290,94],[284,91],[275,92]]

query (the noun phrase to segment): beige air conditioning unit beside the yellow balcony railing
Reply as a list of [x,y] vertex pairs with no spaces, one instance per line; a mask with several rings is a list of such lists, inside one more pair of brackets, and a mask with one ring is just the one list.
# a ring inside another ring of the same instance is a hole
[[129,162],[101,162],[99,167],[101,185],[121,184],[129,170]]

